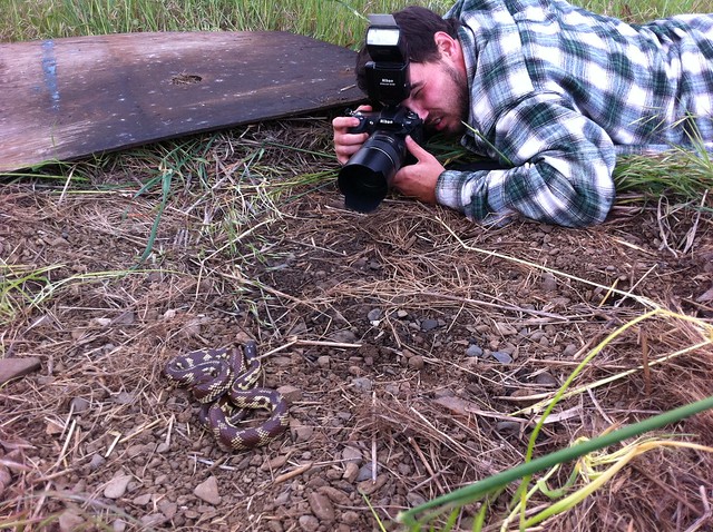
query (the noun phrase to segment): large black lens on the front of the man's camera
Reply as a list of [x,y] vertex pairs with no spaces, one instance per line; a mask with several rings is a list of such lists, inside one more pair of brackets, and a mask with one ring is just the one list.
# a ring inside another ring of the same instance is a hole
[[339,189],[346,208],[371,213],[389,194],[391,179],[403,165],[402,137],[377,131],[339,173]]

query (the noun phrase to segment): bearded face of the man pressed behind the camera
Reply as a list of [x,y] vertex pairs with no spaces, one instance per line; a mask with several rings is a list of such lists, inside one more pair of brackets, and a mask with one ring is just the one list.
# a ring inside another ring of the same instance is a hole
[[416,112],[429,132],[461,134],[468,120],[468,80],[450,62],[411,62],[411,93],[401,105]]

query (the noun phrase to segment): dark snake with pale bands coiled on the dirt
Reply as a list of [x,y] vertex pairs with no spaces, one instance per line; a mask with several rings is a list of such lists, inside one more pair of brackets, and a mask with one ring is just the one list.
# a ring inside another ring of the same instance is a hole
[[[242,349],[205,348],[178,355],[166,364],[164,373],[175,384],[188,387],[203,404],[201,423],[228,450],[267,445],[287,428],[285,398],[276,390],[256,386],[262,365],[254,341]],[[250,410],[271,414],[257,426],[240,426]]]

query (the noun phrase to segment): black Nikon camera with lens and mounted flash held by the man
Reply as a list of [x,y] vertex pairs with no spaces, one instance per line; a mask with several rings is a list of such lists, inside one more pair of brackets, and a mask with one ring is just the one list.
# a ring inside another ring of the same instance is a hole
[[365,65],[367,92],[374,112],[349,111],[359,119],[350,132],[368,132],[363,146],[341,168],[338,185],[348,208],[370,213],[387,197],[391,180],[409,156],[406,137],[420,141],[423,120],[401,106],[409,97],[409,56],[392,14],[370,14]]

